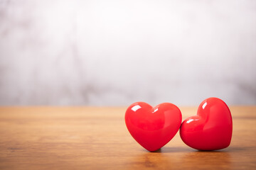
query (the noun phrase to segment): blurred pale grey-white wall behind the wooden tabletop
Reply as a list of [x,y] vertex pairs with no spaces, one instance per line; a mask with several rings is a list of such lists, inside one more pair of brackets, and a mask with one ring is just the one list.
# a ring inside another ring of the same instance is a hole
[[0,0],[1,106],[256,104],[256,1]]

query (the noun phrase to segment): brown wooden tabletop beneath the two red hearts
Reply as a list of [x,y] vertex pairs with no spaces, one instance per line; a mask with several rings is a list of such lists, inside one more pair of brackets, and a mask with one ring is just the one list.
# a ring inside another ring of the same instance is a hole
[[[256,107],[230,107],[230,147],[198,152],[177,133],[159,152],[129,135],[126,108],[0,108],[0,169],[256,169]],[[181,108],[183,119],[196,108]]]

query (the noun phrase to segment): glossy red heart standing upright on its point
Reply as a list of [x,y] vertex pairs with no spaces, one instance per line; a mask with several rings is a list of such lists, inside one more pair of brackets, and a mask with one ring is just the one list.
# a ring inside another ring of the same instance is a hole
[[134,140],[150,152],[164,147],[181,127],[181,111],[172,103],[156,107],[133,103],[125,113],[125,123]]

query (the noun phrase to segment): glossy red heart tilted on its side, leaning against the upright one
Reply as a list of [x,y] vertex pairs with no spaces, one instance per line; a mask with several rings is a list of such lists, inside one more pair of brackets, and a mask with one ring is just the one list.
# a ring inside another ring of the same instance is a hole
[[198,107],[197,115],[183,121],[181,139],[198,150],[224,149],[232,137],[232,117],[226,103],[219,98],[207,98]]

